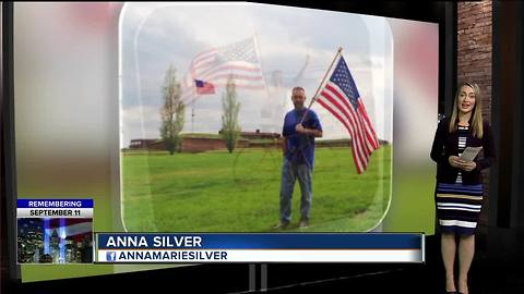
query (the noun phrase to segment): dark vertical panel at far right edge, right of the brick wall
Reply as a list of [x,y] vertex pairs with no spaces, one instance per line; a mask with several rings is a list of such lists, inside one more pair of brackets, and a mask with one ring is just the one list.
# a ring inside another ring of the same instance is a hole
[[493,2],[493,132],[498,163],[490,177],[489,262],[524,259],[524,3]]

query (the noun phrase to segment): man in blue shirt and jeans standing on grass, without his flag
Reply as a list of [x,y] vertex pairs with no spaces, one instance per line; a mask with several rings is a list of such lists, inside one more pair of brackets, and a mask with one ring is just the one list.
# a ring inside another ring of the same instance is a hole
[[302,87],[293,88],[291,101],[295,109],[287,112],[282,131],[284,162],[281,185],[281,222],[275,225],[275,229],[286,228],[291,220],[291,196],[297,177],[301,192],[299,228],[309,225],[309,211],[313,197],[311,182],[314,138],[322,137],[322,126],[317,113],[303,106],[306,91]]

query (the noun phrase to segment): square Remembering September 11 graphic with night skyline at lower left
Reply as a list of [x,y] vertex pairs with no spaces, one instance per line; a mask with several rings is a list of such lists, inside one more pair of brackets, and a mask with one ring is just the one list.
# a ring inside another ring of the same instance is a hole
[[92,264],[93,199],[19,199],[19,264]]

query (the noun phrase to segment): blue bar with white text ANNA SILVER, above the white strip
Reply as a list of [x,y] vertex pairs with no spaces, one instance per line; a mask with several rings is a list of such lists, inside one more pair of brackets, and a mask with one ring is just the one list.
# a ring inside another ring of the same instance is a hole
[[97,249],[420,249],[419,233],[97,233]]

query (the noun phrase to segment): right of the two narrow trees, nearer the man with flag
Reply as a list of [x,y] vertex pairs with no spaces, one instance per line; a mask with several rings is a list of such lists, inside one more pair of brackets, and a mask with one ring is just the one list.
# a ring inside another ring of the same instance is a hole
[[227,150],[233,152],[237,140],[240,137],[240,125],[238,124],[238,112],[240,102],[237,101],[237,86],[233,75],[229,75],[226,84],[226,93],[222,95],[222,138],[226,143]]

